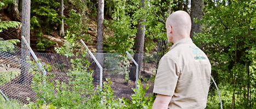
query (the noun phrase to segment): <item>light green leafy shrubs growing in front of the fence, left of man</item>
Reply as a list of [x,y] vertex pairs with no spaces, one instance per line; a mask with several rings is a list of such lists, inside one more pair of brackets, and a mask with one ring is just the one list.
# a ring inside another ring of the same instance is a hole
[[[69,33],[69,32],[67,32]],[[153,97],[145,96],[146,90],[140,81],[138,81],[138,89],[133,89],[136,94],[131,96],[132,101],[129,99],[123,100],[117,98],[113,94],[113,90],[110,87],[111,81],[104,82],[103,88],[93,85],[92,70],[89,70],[89,62],[84,59],[87,54],[73,54],[73,40],[74,35],[71,33],[65,37],[67,43],[63,47],[56,48],[56,51],[67,57],[75,57],[71,59],[72,69],[69,69],[67,74],[68,82],[61,82],[60,80],[54,80],[55,74],[49,73],[43,75],[41,72],[37,72],[38,69],[35,65],[31,68],[33,77],[32,88],[36,91],[38,96],[36,105],[42,105],[44,102],[49,103],[48,106],[56,106],[57,108],[151,108]],[[31,64],[35,62],[31,61]],[[45,65],[44,65],[45,66]],[[50,66],[44,67],[50,71]],[[136,105],[134,105],[136,103]],[[139,104],[139,105],[138,105]],[[134,105],[134,106],[133,106]],[[35,104],[30,102],[28,107],[33,107]]]

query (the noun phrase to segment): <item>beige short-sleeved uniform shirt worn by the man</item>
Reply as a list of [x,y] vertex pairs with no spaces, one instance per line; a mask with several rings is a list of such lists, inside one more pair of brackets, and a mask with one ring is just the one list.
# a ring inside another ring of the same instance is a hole
[[172,96],[168,108],[205,108],[210,79],[206,54],[185,38],[161,58],[153,93]]

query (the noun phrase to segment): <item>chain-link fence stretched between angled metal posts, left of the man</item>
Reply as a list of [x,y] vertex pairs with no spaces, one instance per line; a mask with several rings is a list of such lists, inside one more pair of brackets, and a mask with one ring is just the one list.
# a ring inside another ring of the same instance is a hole
[[[35,90],[31,88],[31,81],[33,75],[29,72],[32,65],[27,62],[28,60],[33,60],[33,57],[26,57],[22,54],[25,50],[14,46],[1,39],[0,42],[0,90],[8,96],[8,98],[18,99],[21,102],[29,103],[30,101],[35,101],[37,99]],[[25,52],[26,53],[26,52]],[[49,64],[51,66],[51,72],[55,75],[54,80],[59,80],[60,82],[67,82],[69,76],[67,73],[71,68],[71,59],[78,57],[66,57],[57,53],[35,53],[39,62],[42,65]],[[30,55],[30,53],[29,53]],[[134,94],[132,88],[135,88],[135,81],[129,80],[129,73],[132,66],[132,60],[127,56],[126,53],[93,53],[96,58],[101,59],[101,66],[103,67],[103,82],[106,78],[110,78],[112,81],[111,87],[113,93],[118,97],[130,98],[131,94]],[[134,55],[134,54],[133,54]],[[141,75],[144,79],[150,78],[155,75],[156,70],[156,54],[144,54],[143,63],[141,64]],[[86,56],[86,59],[90,62],[89,69],[93,72],[93,84],[99,85],[99,68],[92,59],[91,56]],[[39,68],[39,67],[37,67]],[[37,71],[42,72],[40,69]],[[149,81],[147,81],[149,82]],[[151,86],[147,90],[147,94],[152,93],[153,82],[150,83]],[[144,83],[144,86],[146,82]]]

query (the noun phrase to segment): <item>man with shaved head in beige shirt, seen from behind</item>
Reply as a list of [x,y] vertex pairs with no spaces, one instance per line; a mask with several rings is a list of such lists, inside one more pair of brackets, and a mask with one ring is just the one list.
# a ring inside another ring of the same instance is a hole
[[152,108],[205,108],[211,64],[206,54],[190,39],[191,18],[175,11],[166,21],[167,38],[174,45],[161,58],[153,93]]

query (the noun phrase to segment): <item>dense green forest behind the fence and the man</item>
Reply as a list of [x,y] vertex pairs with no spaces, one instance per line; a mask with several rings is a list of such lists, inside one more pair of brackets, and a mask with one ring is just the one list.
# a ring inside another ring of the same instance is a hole
[[[26,1],[0,1],[0,32],[16,36],[0,34],[4,40],[25,34],[21,15],[27,15],[22,14]],[[256,108],[255,9],[255,0],[33,0],[25,37],[37,52],[55,52],[71,33],[92,51],[157,52],[159,60],[172,45],[165,21],[174,11],[184,10],[192,17],[192,40],[211,61],[223,107]],[[141,64],[141,56],[134,58]],[[219,107],[217,90],[212,89],[207,108]]]

